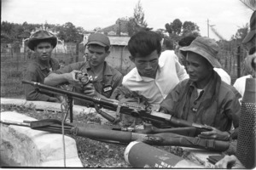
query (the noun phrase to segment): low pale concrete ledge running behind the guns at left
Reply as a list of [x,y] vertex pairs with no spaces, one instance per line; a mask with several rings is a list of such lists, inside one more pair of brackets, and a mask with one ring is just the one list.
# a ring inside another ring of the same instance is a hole
[[[1,105],[24,105],[26,107],[35,107],[38,110],[44,111],[61,111],[61,104],[54,102],[46,102],[46,101],[28,101],[26,99],[7,99],[1,98]],[[116,113],[114,111],[108,111],[102,109],[102,111],[106,111],[110,116],[115,117]],[[73,105],[73,115],[79,114],[92,114],[96,117],[99,117],[102,121],[102,124],[108,122],[104,117],[99,115],[94,108],[85,107],[81,105]]]

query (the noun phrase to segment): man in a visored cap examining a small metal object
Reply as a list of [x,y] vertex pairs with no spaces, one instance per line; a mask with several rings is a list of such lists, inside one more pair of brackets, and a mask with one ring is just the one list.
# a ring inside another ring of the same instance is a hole
[[[87,61],[73,63],[58,71],[53,71],[49,74],[49,77],[45,78],[44,82],[49,86],[69,82],[78,93],[110,98],[114,88],[121,84],[123,76],[105,61],[106,57],[110,54],[109,38],[101,33],[90,34],[86,46],[88,49]],[[82,72],[92,77],[92,83],[83,86],[82,82],[76,77],[76,75]],[[75,100],[75,104],[86,105],[79,100]]]

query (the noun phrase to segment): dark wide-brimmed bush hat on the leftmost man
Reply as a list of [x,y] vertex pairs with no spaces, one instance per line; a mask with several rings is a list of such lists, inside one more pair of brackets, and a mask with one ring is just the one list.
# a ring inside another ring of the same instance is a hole
[[57,45],[57,37],[49,31],[40,30],[32,34],[27,42],[27,47],[34,51],[39,42],[50,42],[52,47]]

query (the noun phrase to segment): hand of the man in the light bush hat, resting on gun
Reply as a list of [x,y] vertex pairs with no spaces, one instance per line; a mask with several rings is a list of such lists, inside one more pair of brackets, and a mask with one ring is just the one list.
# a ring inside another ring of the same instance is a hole
[[230,133],[220,131],[215,127],[211,127],[211,128],[212,128],[212,131],[201,132],[201,134],[199,134],[198,137],[204,138],[204,139],[218,139],[218,140],[230,139]]

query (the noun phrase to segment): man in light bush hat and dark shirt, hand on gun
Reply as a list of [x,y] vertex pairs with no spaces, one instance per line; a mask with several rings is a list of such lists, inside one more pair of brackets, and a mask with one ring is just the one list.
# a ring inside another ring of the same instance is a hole
[[[213,67],[221,67],[218,44],[208,37],[196,37],[189,46],[180,50],[186,54],[189,79],[179,82],[168,94],[161,103],[161,111],[212,127],[212,131],[201,133],[201,138],[236,138],[241,95],[222,82],[213,70]],[[234,130],[230,129],[232,122]]]

